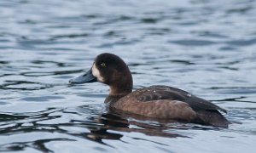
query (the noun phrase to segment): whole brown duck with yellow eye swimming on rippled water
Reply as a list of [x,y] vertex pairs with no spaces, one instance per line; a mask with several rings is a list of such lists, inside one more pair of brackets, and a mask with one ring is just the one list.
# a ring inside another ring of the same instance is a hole
[[228,127],[230,124],[221,113],[226,113],[225,109],[182,89],[153,85],[132,91],[131,71],[115,54],[98,54],[89,71],[69,81],[70,84],[88,82],[102,82],[109,86],[104,103],[112,111],[212,127]]

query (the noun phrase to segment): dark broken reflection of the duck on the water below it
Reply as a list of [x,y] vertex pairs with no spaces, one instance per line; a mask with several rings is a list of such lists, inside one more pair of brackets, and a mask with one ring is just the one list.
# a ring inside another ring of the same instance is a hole
[[[163,126],[161,124],[151,125],[146,122],[128,120],[126,119],[127,117],[127,115],[124,116],[117,113],[108,112],[106,114],[102,114],[101,116],[91,118],[95,122],[102,124],[102,127],[90,129],[90,133],[87,134],[87,138],[96,140],[97,142],[102,142],[102,139],[120,139],[123,137],[122,134],[114,133],[114,131],[125,133],[144,133],[149,136],[160,136],[167,138],[186,137],[177,133],[166,133],[165,130],[170,127]],[[113,132],[111,132],[111,130],[113,130]]]

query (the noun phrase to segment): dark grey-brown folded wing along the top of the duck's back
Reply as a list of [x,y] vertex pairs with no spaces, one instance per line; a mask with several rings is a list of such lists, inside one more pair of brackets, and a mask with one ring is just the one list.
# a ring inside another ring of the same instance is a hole
[[150,86],[148,88],[138,89],[132,92],[138,101],[146,102],[158,99],[172,99],[188,103],[195,111],[224,111],[218,105],[212,104],[206,99],[201,99],[193,94],[181,90],[179,88],[172,88],[168,86]]

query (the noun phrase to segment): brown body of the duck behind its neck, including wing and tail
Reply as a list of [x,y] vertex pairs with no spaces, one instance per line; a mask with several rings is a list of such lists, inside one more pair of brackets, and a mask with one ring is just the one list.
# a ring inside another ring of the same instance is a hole
[[229,122],[219,111],[224,109],[178,88],[150,86],[137,89],[111,104],[115,109],[154,118],[228,127]]

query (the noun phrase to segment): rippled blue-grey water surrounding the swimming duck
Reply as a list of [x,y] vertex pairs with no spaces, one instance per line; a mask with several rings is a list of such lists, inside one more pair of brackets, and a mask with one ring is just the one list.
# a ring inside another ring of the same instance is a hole
[[[0,151],[254,152],[256,1],[0,1]],[[101,83],[68,86],[118,54],[134,88],[164,84],[227,110],[228,129],[108,114]]]

